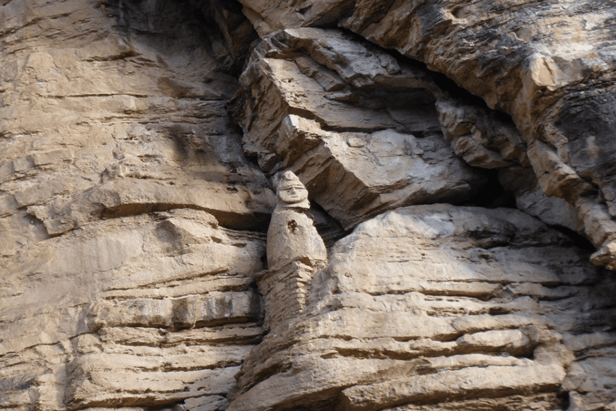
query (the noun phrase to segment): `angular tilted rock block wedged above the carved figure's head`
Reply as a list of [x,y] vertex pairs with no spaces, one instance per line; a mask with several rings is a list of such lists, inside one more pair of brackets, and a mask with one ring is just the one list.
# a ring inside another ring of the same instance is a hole
[[426,71],[342,32],[284,30],[253,52],[235,116],[266,171],[292,169],[345,229],[413,203],[461,202],[487,179],[444,140]]

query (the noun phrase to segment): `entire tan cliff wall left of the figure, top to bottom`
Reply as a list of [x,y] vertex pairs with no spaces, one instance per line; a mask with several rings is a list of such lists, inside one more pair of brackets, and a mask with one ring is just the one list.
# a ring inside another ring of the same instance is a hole
[[0,4],[0,408],[224,408],[263,315],[265,236],[238,229],[275,197],[214,25],[188,1]]

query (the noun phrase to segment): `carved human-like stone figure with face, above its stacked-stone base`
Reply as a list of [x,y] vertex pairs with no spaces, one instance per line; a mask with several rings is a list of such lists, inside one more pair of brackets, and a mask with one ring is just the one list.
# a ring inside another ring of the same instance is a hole
[[308,190],[292,171],[285,171],[277,186],[278,204],[268,229],[270,269],[292,260],[324,261],[327,251],[310,216]]

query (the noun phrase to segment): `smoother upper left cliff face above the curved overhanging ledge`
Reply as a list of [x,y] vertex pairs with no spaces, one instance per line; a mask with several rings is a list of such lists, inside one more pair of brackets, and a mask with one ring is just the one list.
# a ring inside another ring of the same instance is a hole
[[[200,22],[183,21],[188,5],[153,5],[152,18],[167,15],[151,28],[154,21],[128,6],[63,1],[41,4],[38,17],[23,7],[3,6],[14,33],[3,45],[1,212],[3,228],[21,235],[3,236],[1,251],[47,238],[45,231],[57,236],[101,218],[172,208],[206,210],[227,227],[266,223],[272,193],[244,160],[224,112],[235,80],[216,73]],[[39,36],[63,19],[74,38],[37,51],[46,44]],[[187,36],[172,36],[168,25],[177,21]],[[29,40],[16,46],[18,38]],[[21,229],[29,220],[35,227]]]

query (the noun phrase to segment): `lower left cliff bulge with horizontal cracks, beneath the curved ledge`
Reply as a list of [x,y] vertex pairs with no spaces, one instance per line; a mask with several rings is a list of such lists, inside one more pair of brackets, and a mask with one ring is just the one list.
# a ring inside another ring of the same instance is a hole
[[2,391],[55,399],[33,404],[42,410],[224,395],[261,334],[251,283],[263,254],[261,236],[195,210],[21,249],[0,271]]

